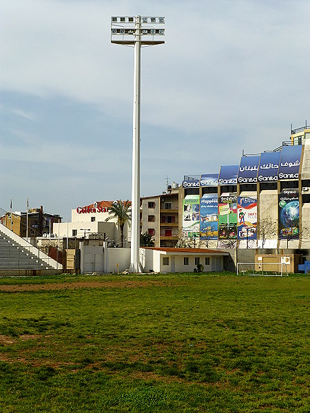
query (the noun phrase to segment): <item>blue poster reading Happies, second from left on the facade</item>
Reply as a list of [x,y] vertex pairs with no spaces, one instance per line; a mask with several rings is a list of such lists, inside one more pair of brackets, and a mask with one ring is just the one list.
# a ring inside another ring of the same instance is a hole
[[205,193],[200,200],[200,240],[218,239],[218,197]]

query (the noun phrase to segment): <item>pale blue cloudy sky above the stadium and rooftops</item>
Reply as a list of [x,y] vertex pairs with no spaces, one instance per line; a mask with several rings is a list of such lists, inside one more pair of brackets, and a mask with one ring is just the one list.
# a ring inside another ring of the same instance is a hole
[[110,18],[136,14],[166,29],[142,51],[141,195],[310,123],[308,0],[2,0],[2,212],[131,198],[134,53]]

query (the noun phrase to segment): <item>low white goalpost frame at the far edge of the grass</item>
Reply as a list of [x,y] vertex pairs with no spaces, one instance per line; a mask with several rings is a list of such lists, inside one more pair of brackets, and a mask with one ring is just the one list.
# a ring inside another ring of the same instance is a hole
[[285,262],[237,262],[237,275],[289,276]]

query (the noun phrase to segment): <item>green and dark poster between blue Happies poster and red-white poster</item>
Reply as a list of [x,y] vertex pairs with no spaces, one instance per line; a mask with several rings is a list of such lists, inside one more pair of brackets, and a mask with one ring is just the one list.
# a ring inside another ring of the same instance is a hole
[[237,239],[237,195],[218,198],[218,239]]

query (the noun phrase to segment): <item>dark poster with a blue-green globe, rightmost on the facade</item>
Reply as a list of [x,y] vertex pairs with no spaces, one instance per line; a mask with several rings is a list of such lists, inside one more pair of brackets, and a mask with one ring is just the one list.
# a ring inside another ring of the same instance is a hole
[[285,189],[278,198],[279,238],[280,240],[296,240],[299,237],[298,190]]

